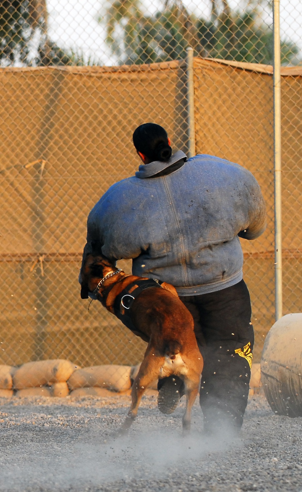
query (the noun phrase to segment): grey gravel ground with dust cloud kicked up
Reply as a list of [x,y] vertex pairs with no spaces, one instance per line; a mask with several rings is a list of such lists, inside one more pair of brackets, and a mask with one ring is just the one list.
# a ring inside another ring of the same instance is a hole
[[249,400],[240,438],[181,437],[184,404],[164,416],[144,397],[127,437],[115,437],[129,397],[0,400],[0,491],[302,492],[302,418]]

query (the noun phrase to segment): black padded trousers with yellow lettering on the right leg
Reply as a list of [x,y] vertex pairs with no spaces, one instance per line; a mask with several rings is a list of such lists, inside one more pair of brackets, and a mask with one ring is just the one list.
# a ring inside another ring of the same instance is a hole
[[243,280],[226,289],[182,296],[194,318],[204,358],[200,406],[205,430],[241,428],[247,404],[254,331],[249,292]]

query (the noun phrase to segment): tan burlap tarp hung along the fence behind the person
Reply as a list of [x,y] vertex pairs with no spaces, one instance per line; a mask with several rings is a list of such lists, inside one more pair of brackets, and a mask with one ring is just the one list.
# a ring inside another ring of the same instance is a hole
[[[259,356],[274,313],[272,68],[252,65],[195,59],[194,86],[197,153],[250,169],[268,205],[267,232],[242,242]],[[302,74],[295,70],[282,75],[287,311],[301,310]],[[140,361],[144,342],[101,305],[88,311],[79,299],[86,218],[111,184],[137,168],[131,135],[138,124],[162,124],[174,149],[187,150],[185,82],[179,62],[0,69],[1,363]],[[41,159],[44,169],[31,165]]]

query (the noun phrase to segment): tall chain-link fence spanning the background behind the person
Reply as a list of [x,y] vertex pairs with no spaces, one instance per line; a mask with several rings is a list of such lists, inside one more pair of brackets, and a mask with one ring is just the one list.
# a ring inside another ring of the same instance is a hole
[[[266,233],[242,240],[257,360],[274,322],[272,5],[90,1],[0,4],[0,363],[141,360],[145,343],[99,303],[88,311],[77,277],[89,211],[139,164],[135,127],[159,123],[174,151],[192,148],[188,48],[196,154],[242,164],[267,202]],[[300,2],[284,0],[284,313],[302,310],[301,30]],[[121,263],[130,273],[129,262]]]

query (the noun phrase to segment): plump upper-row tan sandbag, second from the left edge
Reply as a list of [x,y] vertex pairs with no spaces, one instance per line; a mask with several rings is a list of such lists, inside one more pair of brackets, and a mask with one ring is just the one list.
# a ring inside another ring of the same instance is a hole
[[66,382],[77,369],[70,361],[55,359],[27,362],[13,374],[13,385],[17,390]]

